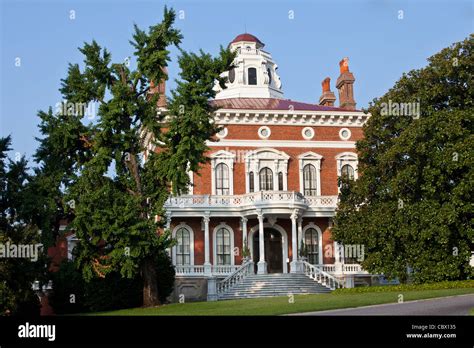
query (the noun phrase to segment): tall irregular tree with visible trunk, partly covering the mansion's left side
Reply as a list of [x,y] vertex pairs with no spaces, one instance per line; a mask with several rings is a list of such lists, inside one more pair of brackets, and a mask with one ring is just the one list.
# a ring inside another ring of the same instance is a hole
[[[145,306],[160,303],[155,261],[173,243],[169,231],[157,233],[164,227],[163,204],[170,190],[187,188],[187,171],[206,161],[205,141],[217,131],[209,99],[234,59],[223,49],[216,58],[181,51],[181,81],[169,113],[157,113],[159,95],[152,86],[167,78],[169,47],[182,40],[174,19],[165,8],[160,24],[148,31],[135,26],[135,70],[128,62],[112,63],[95,41],[85,43],[84,66],[71,64],[60,89],[71,112],[40,115],[38,158],[64,157],[56,183],[64,186],[62,204],[74,216],[84,277],[139,273]],[[85,125],[84,106],[91,105],[98,106],[97,117]]]

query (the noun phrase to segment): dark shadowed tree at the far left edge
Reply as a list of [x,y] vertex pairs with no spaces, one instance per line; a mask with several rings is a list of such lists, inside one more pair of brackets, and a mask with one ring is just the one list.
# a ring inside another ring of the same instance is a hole
[[[44,258],[38,245],[39,229],[24,204],[31,199],[26,189],[31,177],[24,157],[17,161],[7,158],[10,144],[10,137],[0,138],[0,315],[38,315],[39,302],[32,285],[44,271]],[[12,257],[12,245],[31,245],[38,253],[36,259],[34,255]]]

